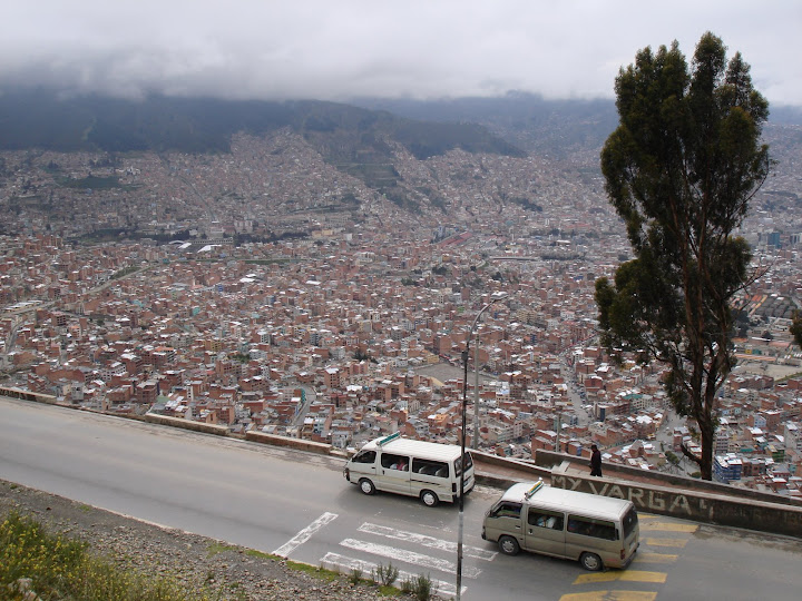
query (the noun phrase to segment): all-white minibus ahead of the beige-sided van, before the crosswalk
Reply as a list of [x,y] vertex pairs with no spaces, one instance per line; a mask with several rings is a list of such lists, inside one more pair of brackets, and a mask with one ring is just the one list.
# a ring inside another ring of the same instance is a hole
[[[440,501],[459,499],[462,480],[461,449],[402,439],[397,432],[366,443],[343,470],[345,480],[365,494],[376,491],[418,496],[433,508]],[[464,491],[473,489],[473,459],[466,451]]]

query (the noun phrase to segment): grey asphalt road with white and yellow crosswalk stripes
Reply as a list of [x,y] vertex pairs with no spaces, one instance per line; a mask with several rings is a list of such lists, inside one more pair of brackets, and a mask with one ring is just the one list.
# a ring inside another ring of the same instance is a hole
[[[143,520],[348,572],[383,564],[456,582],[457,508],[365,496],[343,462],[124,418],[0,398],[0,479]],[[481,540],[500,491],[477,486],[464,508],[466,600],[796,600],[799,540],[643,515],[642,548],[624,571],[506,556]]]

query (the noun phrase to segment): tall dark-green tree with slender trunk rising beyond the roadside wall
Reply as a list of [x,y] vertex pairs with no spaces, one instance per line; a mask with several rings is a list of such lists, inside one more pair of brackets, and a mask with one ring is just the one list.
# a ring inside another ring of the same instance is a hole
[[618,128],[602,150],[610,204],[635,258],[596,282],[603,344],[667,366],[677,412],[697,425],[711,480],[717,392],[735,364],[733,304],[752,258],[737,237],[771,160],[761,144],[769,104],[741,55],[713,33],[691,67],[675,41],[645,48],[615,82]]

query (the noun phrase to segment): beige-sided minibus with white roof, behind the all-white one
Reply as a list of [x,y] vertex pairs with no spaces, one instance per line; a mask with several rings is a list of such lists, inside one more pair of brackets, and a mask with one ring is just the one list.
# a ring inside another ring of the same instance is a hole
[[577,560],[586,570],[626,568],[640,544],[632,501],[552,489],[538,482],[510,486],[485,514],[482,539],[499,550]]

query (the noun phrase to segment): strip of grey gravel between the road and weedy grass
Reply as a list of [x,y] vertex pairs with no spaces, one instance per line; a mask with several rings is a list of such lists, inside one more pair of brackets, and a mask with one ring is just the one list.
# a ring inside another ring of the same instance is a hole
[[170,575],[192,589],[208,587],[221,601],[388,599],[373,587],[353,585],[346,575],[329,582],[245,548],[0,480],[0,519],[11,511],[30,515],[52,534],[89,543],[92,552],[120,566]]

